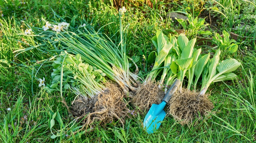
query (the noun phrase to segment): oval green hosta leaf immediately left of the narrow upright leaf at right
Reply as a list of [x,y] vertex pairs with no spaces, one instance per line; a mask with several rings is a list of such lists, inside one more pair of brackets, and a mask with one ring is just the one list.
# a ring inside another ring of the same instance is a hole
[[195,67],[196,77],[199,77],[202,74],[203,69],[206,66],[209,58],[210,58],[210,53],[207,54],[207,55],[204,55],[200,59],[198,59],[198,62],[197,62],[196,67]]

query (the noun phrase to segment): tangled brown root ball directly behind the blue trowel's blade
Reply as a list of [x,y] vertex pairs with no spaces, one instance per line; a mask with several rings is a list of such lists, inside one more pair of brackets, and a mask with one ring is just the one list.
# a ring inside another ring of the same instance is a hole
[[161,103],[164,91],[158,85],[155,82],[149,82],[138,87],[136,94],[132,97],[132,103],[139,107],[140,113],[147,112],[153,103]]

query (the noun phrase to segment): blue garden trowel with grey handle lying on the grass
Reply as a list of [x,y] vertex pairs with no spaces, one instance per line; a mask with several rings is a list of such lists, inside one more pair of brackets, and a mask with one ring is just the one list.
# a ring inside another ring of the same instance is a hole
[[169,102],[170,98],[178,89],[180,84],[181,81],[179,79],[176,79],[175,82],[170,87],[170,89],[165,94],[165,96],[163,97],[162,103],[160,103],[159,105],[153,104],[149,109],[143,121],[143,126],[144,128],[146,128],[148,134],[154,133],[154,131],[156,131],[160,127],[161,121],[164,119],[166,115],[163,108],[165,107],[166,103]]

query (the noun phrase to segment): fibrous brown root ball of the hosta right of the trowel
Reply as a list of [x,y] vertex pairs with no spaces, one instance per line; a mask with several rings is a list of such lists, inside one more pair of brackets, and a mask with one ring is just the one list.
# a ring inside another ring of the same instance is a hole
[[169,102],[169,111],[176,121],[181,125],[192,123],[193,119],[203,119],[213,109],[213,103],[203,95],[198,96],[199,92],[183,89],[182,92],[176,92]]

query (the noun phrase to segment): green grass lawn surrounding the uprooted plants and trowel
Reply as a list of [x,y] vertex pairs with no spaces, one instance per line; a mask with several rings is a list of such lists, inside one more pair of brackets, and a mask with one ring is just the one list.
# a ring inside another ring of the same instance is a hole
[[[38,35],[24,35],[24,31],[27,28],[38,31],[34,27],[42,28],[45,21],[65,19],[73,27],[91,24],[118,41],[118,11],[111,4],[82,0],[0,0],[0,142],[256,142],[256,47],[248,40],[239,44],[232,55],[242,63],[235,71],[237,80],[218,82],[207,90],[215,107],[202,120],[181,126],[168,115],[154,134],[147,134],[142,126],[146,113],[138,112],[125,120],[124,128],[117,121],[106,126],[96,124],[93,129],[76,133],[83,126],[82,121],[69,113],[60,93],[48,93],[38,87],[39,78],[45,78],[45,84],[51,83],[52,63],[45,60],[59,54],[58,47],[38,40]],[[165,13],[161,8],[125,6],[127,53],[138,65],[139,76],[145,78],[152,70],[152,63],[142,57],[148,57],[154,50],[151,38],[160,29],[168,35],[174,23],[161,16]],[[28,47],[32,48],[13,53]],[[206,45],[198,47],[205,52],[211,50]],[[135,70],[134,65],[131,70]],[[63,90],[63,95],[70,106],[74,95],[68,90]]]

